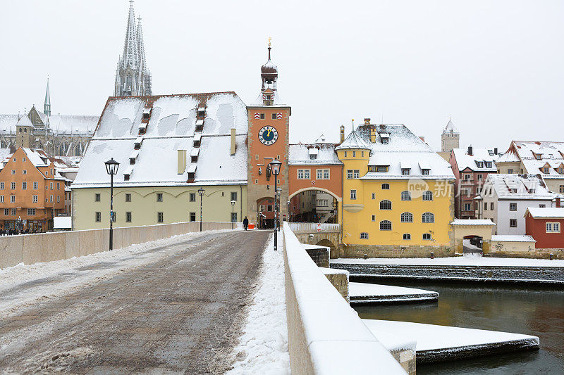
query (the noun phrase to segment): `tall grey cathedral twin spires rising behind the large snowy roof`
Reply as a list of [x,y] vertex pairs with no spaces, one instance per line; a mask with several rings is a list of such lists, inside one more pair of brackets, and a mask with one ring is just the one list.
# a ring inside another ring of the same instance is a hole
[[141,18],[135,27],[133,0],[129,0],[128,27],[125,30],[123,55],[118,60],[114,96],[151,95],[151,72],[145,62]]

